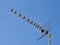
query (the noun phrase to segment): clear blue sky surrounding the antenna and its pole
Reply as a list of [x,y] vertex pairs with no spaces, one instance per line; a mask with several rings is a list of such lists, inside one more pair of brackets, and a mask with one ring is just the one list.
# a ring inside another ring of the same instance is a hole
[[11,8],[38,24],[50,21],[52,45],[60,45],[59,0],[0,0],[0,45],[48,45],[48,37],[37,41],[40,32],[10,13]]

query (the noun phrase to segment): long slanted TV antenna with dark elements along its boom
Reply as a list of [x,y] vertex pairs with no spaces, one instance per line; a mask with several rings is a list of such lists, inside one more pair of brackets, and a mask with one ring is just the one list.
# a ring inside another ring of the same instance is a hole
[[43,34],[38,40],[40,40],[41,38],[43,38],[45,35],[47,35],[49,33],[49,31],[47,29],[44,29],[41,25],[30,20],[30,18],[23,16],[22,13],[18,13],[17,10],[11,9],[10,12],[17,15],[19,18],[23,19],[24,21],[28,22],[30,25],[32,25],[33,27],[38,29]]

